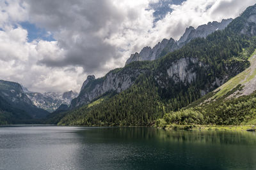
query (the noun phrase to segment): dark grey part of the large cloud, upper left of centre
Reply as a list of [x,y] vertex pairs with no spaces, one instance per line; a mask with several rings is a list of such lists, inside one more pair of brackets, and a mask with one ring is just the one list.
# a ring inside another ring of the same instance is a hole
[[[86,73],[105,71],[104,64],[116,55],[116,46],[105,43],[124,20],[122,11],[106,0],[28,1],[31,22],[54,32],[63,59],[51,56],[38,61],[49,67],[82,66]],[[132,16],[133,15],[133,16]],[[131,17],[134,12],[131,12]],[[104,32],[100,35],[100,31]],[[100,35],[100,36],[99,36]]]

